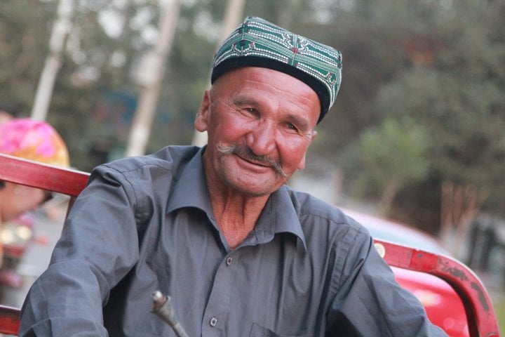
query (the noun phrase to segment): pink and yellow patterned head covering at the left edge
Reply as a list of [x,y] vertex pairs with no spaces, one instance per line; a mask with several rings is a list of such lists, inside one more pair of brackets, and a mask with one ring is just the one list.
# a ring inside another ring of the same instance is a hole
[[45,164],[69,166],[67,145],[45,121],[18,118],[0,124],[0,153]]

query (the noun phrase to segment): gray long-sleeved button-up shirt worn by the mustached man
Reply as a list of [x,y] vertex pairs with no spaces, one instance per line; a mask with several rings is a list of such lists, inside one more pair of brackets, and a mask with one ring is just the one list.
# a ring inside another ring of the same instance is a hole
[[445,336],[395,281],[368,232],[284,186],[231,250],[198,147],[93,170],[22,309],[23,336]]

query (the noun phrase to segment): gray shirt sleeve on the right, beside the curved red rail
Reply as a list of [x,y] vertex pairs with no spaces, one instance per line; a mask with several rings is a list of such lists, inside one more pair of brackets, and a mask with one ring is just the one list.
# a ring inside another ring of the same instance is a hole
[[326,336],[447,336],[429,322],[419,300],[396,282],[366,230],[358,230],[346,256]]

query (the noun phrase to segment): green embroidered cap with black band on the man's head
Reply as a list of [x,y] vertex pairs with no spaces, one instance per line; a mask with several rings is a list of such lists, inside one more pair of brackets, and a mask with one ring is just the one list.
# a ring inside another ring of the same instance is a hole
[[238,67],[278,70],[309,85],[321,103],[318,123],[335,102],[342,81],[342,54],[335,48],[252,16],[245,18],[217,49],[211,83]]

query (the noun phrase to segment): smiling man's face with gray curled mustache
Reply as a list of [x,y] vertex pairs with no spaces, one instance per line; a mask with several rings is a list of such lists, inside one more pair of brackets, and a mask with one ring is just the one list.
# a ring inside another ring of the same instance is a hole
[[195,126],[208,131],[208,183],[259,197],[305,166],[321,106],[307,84],[288,74],[244,67],[206,91]]

